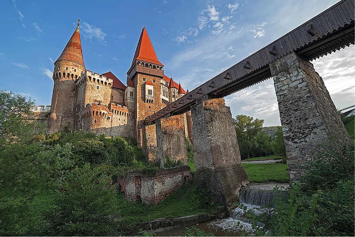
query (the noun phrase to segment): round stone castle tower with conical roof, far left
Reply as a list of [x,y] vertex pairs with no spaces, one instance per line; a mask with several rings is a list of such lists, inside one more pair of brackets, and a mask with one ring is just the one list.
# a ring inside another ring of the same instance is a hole
[[53,94],[48,120],[48,132],[56,133],[63,129],[75,127],[75,103],[77,92],[75,80],[85,71],[79,23],[59,58],[54,62]]

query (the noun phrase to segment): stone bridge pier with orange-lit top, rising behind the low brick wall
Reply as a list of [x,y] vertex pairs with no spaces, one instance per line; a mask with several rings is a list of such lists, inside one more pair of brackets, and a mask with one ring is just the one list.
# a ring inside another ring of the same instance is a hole
[[187,165],[184,115],[162,117],[155,121],[158,159],[164,168],[165,158]]

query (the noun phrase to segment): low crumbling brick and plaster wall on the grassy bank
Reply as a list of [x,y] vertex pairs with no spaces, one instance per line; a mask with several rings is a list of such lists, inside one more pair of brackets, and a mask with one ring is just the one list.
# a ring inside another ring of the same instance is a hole
[[156,175],[140,171],[128,172],[125,176],[117,178],[117,186],[125,193],[126,200],[157,205],[182,184],[190,181],[190,167],[178,166],[160,170]]

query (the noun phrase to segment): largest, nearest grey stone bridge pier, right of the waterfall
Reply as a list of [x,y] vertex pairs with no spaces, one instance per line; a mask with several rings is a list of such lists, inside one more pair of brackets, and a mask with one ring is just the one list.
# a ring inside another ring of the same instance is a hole
[[[323,79],[313,64],[291,53],[269,64],[279,104],[291,181],[304,174],[305,162],[331,139],[351,144]],[[195,125],[195,124],[194,124]]]

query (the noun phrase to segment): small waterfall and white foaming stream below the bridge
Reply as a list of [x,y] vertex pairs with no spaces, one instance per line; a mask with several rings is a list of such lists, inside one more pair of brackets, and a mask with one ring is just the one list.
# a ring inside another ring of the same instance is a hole
[[[273,191],[275,186],[281,187],[279,194],[283,197],[287,197],[287,192],[284,190],[288,187],[285,183],[268,183],[268,184],[250,184],[249,186],[242,187],[239,191],[239,202],[246,206],[247,211],[252,211],[256,215],[260,215],[258,208],[260,206],[269,205],[275,198]],[[271,207],[272,208],[272,207]],[[263,227],[261,222],[257,223],[258,226]],[[223,231],[238,231],[244,229],[247,232],[252,232],[252,224],[250,220],[246,218],[245,211],[236,208],[231,211],[230,217],[218,219],[208,224],[210,227],[220,228]]]

